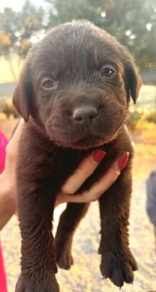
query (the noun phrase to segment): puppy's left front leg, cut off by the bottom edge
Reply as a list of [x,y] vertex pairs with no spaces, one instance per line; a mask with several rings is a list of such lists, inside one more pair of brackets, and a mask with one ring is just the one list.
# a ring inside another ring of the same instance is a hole
[[[33,148],[33,146],[32,146]],[[24,158],[27,154],[27,160]],[[21,274],[16,292],[59,292],[55,273],[52,219],[56,190],[51,165],[37,151],[19,154],[18,214],[21,231]],[[21,155],[22,154],[22,155]],[[24,165],[22,161],[24,159]],[[33,160],[33,163],[31,164]],[[28,167],[29,166],[29,167]]]

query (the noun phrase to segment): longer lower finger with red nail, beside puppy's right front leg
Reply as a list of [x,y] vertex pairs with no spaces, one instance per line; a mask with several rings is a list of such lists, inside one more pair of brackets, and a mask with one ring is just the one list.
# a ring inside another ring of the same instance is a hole
[[80,195],[72,196],[61,194],[59,195],[56,205],[63,202],[92,202],[98,198],[117,180],[121,170],[124,169],[128,162],[129,153],[125,152],[119,160],[117,160],[112,167],[95,183],[89,191],[83,192]]

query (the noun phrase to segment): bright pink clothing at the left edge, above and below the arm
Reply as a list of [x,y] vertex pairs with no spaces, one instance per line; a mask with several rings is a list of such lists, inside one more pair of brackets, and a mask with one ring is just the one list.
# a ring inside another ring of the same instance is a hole
[[[0,130],[0,173],[2,173],[5,166],[5,154],[7,143],[8,143],[7,139]],[[0,243],[0,292],[7,292],[6,273],[1,243]]]

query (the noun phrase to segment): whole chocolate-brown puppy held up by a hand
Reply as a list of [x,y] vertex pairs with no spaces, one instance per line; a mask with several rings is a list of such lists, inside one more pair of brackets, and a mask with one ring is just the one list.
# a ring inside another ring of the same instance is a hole
[[60,25],[30,51],[13,96],[26,122],[17,169],[22,243],[16,292],[59,292],[56,261],[63,269],[72,265],[73,235],[89,204],[67,204],[55,243],[54,204],[63,183],[95,147],[107,155],[78,193],[123,152],[130,153],[116,183],[99,199],[99,254],[103,277],[118,287],[133,282],[137,263],[127,227],[133,148],[124,124],[130,96],[135,103],[140,86],[127,50],[90,22]]

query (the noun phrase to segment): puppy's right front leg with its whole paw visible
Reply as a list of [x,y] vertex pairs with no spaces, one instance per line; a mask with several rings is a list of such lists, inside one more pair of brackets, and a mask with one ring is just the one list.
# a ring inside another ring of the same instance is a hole
[[129,249],[128,219],[132,176],[130,163],[122,170],[117,181],[99,199],[102,255],[100,270],[118,287],[132,283],[137,262]]

